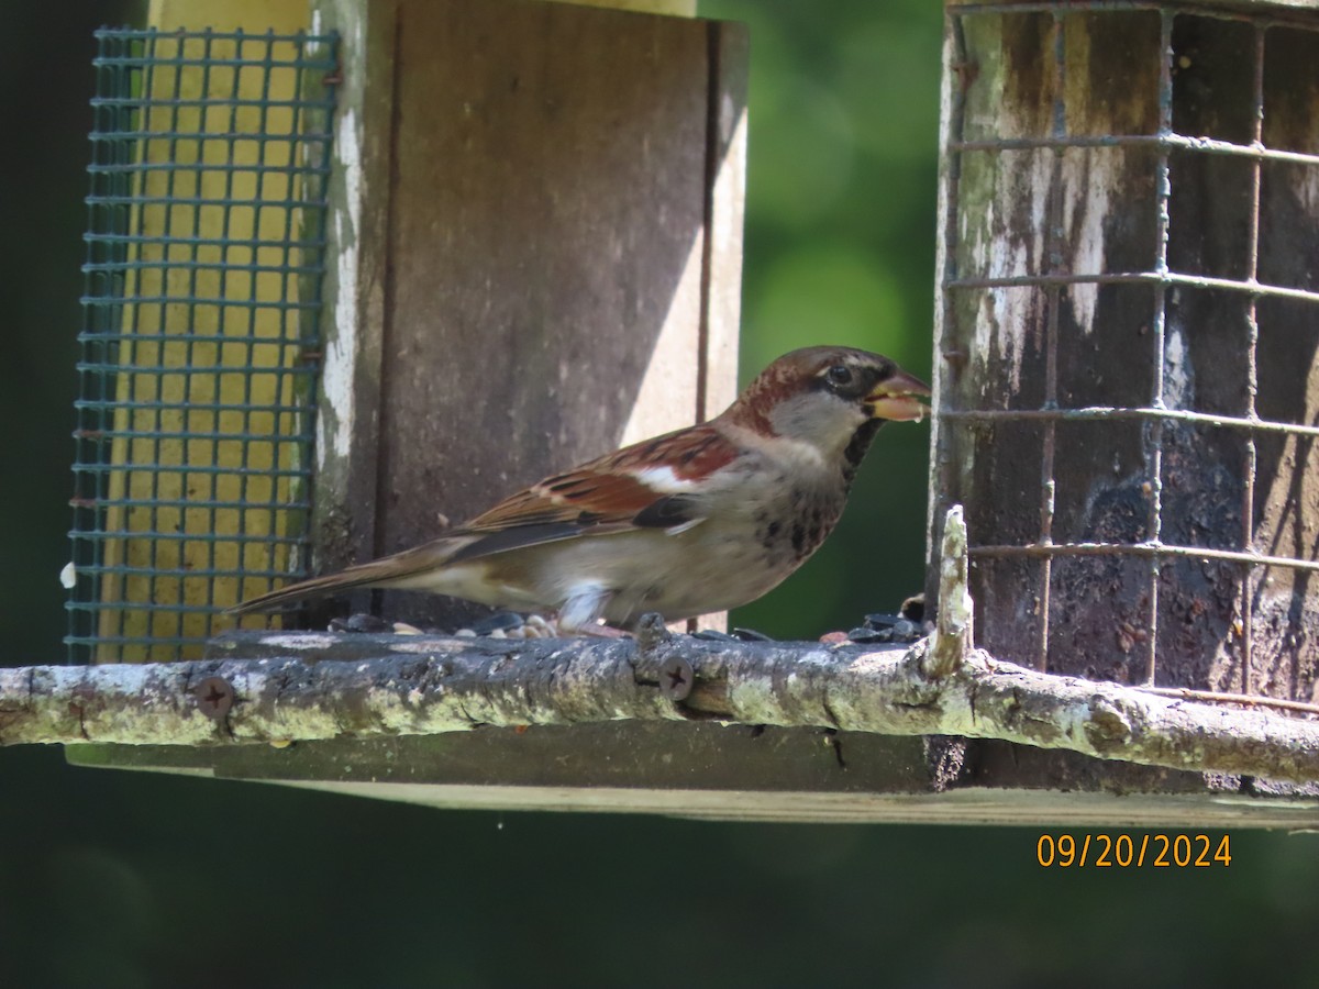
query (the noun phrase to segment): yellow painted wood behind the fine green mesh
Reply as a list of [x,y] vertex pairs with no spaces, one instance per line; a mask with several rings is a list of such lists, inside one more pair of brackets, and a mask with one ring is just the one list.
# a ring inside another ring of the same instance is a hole
[[[305,0],[215,0],[198,3],[189,0],[154,0],[150,5],[149,24],[161,30],[214,28],[216,32],[241,29],[252,34],[293,33],[307,26],[309,9]],[[202,54],[202,42],[186,42],[185,50],[178,50],[173,40],[162,40],[162,54],[178,54],[195,58]],[[171,47],[173,46],[173,47]],[[212,42],[212,55],[232,51],[235,42]],[[152,70],[144,80],[150,94],[158,100],[182,98],[197,100],[203,96],[228,96],[233,92],[237,71],[237,94],[241,99],[290,100],[297,95],[298,79],[294,71],[280,71],[270,76],[270,88],[264,90],[265,73],[255,70],[211,69],[203,71],[198,66],[162,65]],[[274,303],[295,299],[298,282],[295,277],[278,273],[252,273],[222,266],[191,270],[182,262],[200,261],[212,265],[284,265],[295,264],[295,255],[286,255],[272,247],[193,247],[178,243],[179,237],[220,239],[232,241],[281,241],[289,231],[290,218],[282,207],[261,206],[261,208],[235,207],[224,210],[207,206],[207,199],[252,199],[288,200],[293,198],[293,181],[289,174],[272,171],[235,171],[232,177],[222,170],[207,170],[206,165],[291,165],[293,142],[262,145],[257,141],[206,141],[198,138],[170,140],[166,132],[215,133],[231,131],[260,133],[289,133],[293,127],[293,111],[288,107],[272,107],[265,119],[253,108],[243,107],[237,112],[230,107],[182,105],[171,108],[154,104],[144,115],[141,129],[148,136],[141,140],[138,161],[152,164],[173,164],[177,170],[146,170],[140,173],[135,193],[141,196],[170,196],[181,202],[144,204],[135,212],[132,235],[150,239],[173,239],[166,244],[144,244],[133,248],[129,260],[146,262],[145,266],[129,270],[125,278],[124,294],[128,298],[161,297],[185,298],[202,297],[214,299],[233,299],[244,302]],[[153,135],[162,135],[156,137]],[[264,158],[262,158],[264,156]],[[282,156],[282,158],[280,158]],[[260,179],[259,179],[260,175]],[[257,183],[260,182],[260,189]],[[203,200],[194,204],[182,200]],[[162,268],[156,265],[178,266]],[[223,314],[223,315],[222,315]],[[144,302],[128,305],[124,310],[123,331],[133,338],[125,340],[120,351],[120,361],[128,367],[179,368],[178,375],[138,373],[128,371],[120,375],[116,388],[121,397],[131,396],[137,402],[161,402],[171,407],[166,411],[153,409],[119,409],[115,417],[115,430],[119,439],[111,447],[111,463],[121,465],[108,476],[109,500],[124,497],[149,501],[190,501],[219,500],[233,502],[233,509],[212,513],[208,509],[169,508],[145,505],[136,508],[115,508],[107,513],[107,531],[121,533],[121,538],[106,542],[103,562],[107,566],[131,566],[145,571],[141,575],[120,576],[107,574],[102,584],[102,601],[115,605],[102,612],[100,636],[123,637],[204,637],[210,632],[210,605],[233,604],[241,597],[264,589],[265,580],[244,580],[235,578],[212,580],[200,574],[210,570],[282,570],[288,566],[288,547],[282,543],[269,545],[260,541],[237,542],[223,537],[244,534],[248,537],[288,535],[289,513],[276,513],[270,509],[240,510],[244,501],[272,502],[288,501],[290,496],[289,477],[273,475],[237,473],[236,468],[252,471],[293,467],[293,444],[278,443],[274,436],[290,436],[297,423],[289,413],[214,411],[187,407],[191,404],[252,404],[252,405],[291,405],[293,378],[285,376],[220,373],[198,375],[197,368],[233,368],[235,372],[251,367],[277,369],[281,363],[293,359],[291,352],[281,345],[282,340],[295,336],[295,313],[284,313],[277,307],[257,306],[255,319],[249,322],[247,309],[222,306],[189,306],[186,303]],[[170,340],[171,335],[214,334],[232,336],[233,344],[197,343]],[[270,342],[268,345],[249,340]],[[193,373],[183,373],[185,368]],[[144,433],[187,433],[187,434],[232,434],[235,439],[152,439],[138,436]],[[125,433],[135,434],[132,439]],[[272,439],[247,440],[239,434],[260,434]],[[170,467],[215,465],[235,468],[233,472],[219,472],[214,476],[170,471]],[[152,533],[195,534],[197,539],[160,539]],[[211,542],[211,537],[220,537]],[[181,570],[199,571],[199,576],[161,576],[153,571]],[[133,605],[179,604],[187,611],[182,621],[170,612],[149,612]],[[144,662],[150,659],[174,658],[174,647],[166,645],[125,646],[123,651],[115,644],[107,644],[98,650],[99,662]],[[183,658],[187,658],[186,654]]]

